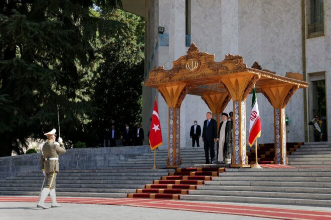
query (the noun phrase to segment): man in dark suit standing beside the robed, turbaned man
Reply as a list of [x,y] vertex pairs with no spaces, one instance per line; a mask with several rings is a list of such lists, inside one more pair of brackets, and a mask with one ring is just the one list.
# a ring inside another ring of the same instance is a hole
[[209,164],[209,151],[211,161],[213,161],[215,157],[214,144],[217,138],[217,122],[212,118],[212,112],[207,112],[206,117],[207,120],[204,121],[202,131],[202,141],[204,141],[206,164]]

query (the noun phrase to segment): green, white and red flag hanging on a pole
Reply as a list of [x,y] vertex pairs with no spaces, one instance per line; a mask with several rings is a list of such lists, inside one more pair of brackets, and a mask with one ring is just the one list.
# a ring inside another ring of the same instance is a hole
[[256,138],[260,136],[261,136],[261,120],[259,114],[259,107],[257,106],[256,92],[254,87],[253,98],[252,98],[252,112],[249,122],[249,137],[248,137],[249,146],[252,146]]

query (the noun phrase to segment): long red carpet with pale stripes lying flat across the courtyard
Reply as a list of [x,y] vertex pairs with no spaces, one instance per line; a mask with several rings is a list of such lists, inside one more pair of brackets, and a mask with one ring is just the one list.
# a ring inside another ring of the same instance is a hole
[[[0,202],[1,201],[35,202],[32,204],[32,206],[34,207],[37,204],[38,200],[39,197],[37,196],[33,196],[33,197],[0,196]],[[269,217],[275,219],[331,220],[331,211],[262,207],[262,206],[254,206],[254,205],[191,202],[191,201],[150,199],[150,198],[57,197],[57,200],[58,202],[61,203],[127,205],[127,206],[136,206],[136,207],[187,210],[187,211],[198,211],[198,212],[256,216],[256,217]],[[51,202],[51,199],[47,198],[46,202]]]

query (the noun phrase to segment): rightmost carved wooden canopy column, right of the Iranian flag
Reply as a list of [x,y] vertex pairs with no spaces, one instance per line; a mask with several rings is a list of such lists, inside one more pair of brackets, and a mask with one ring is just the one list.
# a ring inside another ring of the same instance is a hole
[[281,84],[261,88],[264,96],[273,106],[275,158],[277,164],[287,164],[285,107],[298,85]]

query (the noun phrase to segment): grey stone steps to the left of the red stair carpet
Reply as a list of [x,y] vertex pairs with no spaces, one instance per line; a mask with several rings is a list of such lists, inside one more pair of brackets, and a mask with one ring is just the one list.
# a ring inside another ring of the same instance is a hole
[[[181,149],[183,165],[205,163],[203,147]],[[153,180],[167,176],[168,150],[158,149],[158,169],[151,169],[154,153],[143,153],[126,161],[118,161],[109,169],[67,169],[57,175],[56,188],[59,196],[126,197],[137,188],[143,188]],[[162,169],[160,169],[162,168]],[[0,179],[0,194],[39,195],[44,176],[40,170],[19,172],[16,176]]]

